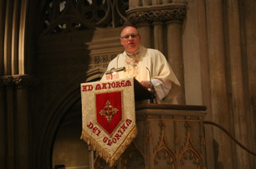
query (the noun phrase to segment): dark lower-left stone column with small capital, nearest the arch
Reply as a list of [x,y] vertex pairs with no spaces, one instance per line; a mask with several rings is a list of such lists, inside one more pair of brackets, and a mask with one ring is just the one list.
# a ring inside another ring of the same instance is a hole
[[29,77],[14,78],[16,83],[16,133],[17,164],[19,168],[29,168]]

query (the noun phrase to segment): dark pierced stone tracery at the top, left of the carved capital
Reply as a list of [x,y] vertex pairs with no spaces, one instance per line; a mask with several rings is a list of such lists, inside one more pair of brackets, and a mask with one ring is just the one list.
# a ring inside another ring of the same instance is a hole
[[43,34],[123,26],[129,1],[51,0],[44,16]]

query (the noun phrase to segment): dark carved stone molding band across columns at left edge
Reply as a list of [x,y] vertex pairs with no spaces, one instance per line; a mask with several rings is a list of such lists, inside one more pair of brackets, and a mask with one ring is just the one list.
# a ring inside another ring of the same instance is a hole
[[29,87],[35,84],[35,81],[29,75],[3,76],[0,77],[0,87]]

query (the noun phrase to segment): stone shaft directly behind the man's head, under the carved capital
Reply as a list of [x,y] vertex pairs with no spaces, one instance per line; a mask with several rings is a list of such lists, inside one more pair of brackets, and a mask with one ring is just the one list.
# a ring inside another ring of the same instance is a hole
[[142,22],[136,25],[141,36],[141,44],[144,47],[151,47],[150,23]]

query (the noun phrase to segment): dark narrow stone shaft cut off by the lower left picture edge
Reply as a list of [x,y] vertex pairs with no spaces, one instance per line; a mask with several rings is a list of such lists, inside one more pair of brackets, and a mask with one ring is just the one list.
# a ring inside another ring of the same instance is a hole
[[0,79],[0,168],[6,168],[5,116],[5,88],[2,79]]

